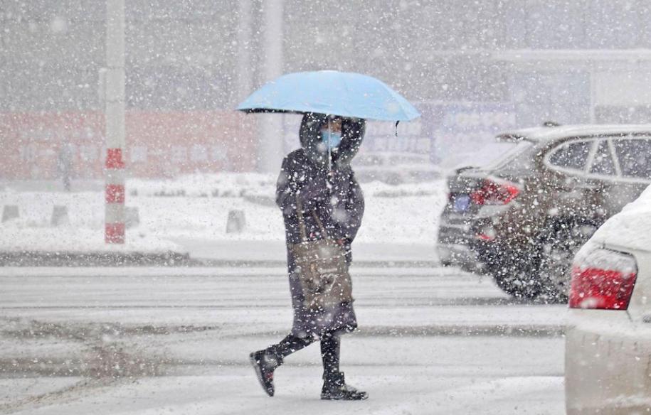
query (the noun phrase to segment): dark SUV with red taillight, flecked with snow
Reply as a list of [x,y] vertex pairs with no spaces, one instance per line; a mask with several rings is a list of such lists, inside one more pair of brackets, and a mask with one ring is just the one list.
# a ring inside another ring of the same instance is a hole
[[512,296],[566,301],[571,260],[651,183],[651,125],[551,126],[500,134],[512,149],[448,178],[438,253]]

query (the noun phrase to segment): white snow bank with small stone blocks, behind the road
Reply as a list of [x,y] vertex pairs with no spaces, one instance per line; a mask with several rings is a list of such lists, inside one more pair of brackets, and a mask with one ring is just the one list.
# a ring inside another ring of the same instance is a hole
[[[282,216],[274,204],[275,176],[223,173],[184,176],[175,180],[127,181],[127,206],[138,208],[140,223],[127,230],[124,247],[104,244],[104,194],[101,183],[78,185],[79,191],[51,191],[58,183],[6,183],[0,206],[16,205],[18,219],[0,224],[0,251],[104,251],[107,249],[159,252],[198,249],[201,257],[224,258],[243,249],[231,243],[258,242],[248,257],[271,249],[276,259],[285,257]],[[73,182],[73,189],[75,183]],[[356,240],[361,254],[383,259],[435,259],[433,244],[438,216],[446,198],[443,180],[432,183],[386,185],[364,183],[366,213]],[[68,208],[68,225],[51,225],[55,205]],[[232,210],[244,212],[243,232],[227,233]],[[206,247],[212,246],[211,249]],[[398,247],[384,249],[384,247]],[[386,252],[388,250],[388,252]],[[389,254],[387,257],[386,254]]]

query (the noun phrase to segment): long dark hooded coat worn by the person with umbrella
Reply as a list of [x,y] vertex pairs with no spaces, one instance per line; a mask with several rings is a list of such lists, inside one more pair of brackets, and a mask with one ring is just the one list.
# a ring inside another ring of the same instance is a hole
[[[305,114],[300,127],[301,149],[292,151],[282,161],[277,181],[276,203],[282,210],[287,243],[287,266],[294,323],[292,335],[319,338],[324,333],[349,332],[357,327],[352,303],[334,309],[309,311],[303,306],[302,289],[295,273],[295,259],[290,245],[301,242],[297,201],[302,207],[308,239],[329,237],[346,248],[346,260],[352,260],[351,244],[364,215],[364,195],[350,166],[364,139],[363,119],[343,119],[342,142],[330,155],[322,144],[321,129],[327,123],[323,114]],[[329,168],[330,167],[330,168]],[[327,235],[314,215],[319,217]]]

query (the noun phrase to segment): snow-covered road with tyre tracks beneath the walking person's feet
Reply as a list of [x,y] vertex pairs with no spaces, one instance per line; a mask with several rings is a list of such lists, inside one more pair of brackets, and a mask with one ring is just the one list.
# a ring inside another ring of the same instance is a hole
[[0,269],[0,412],[563,414],[564,306],[455,269],[354,269],[342,367],[369,401],[319,401],[318,347],[266,397],[250,350],[291,323],[285,270]]

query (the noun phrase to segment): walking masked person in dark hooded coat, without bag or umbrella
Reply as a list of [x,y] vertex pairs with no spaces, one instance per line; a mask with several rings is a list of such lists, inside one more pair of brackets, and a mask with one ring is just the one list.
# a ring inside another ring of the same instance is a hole
[[364,119],[305,114],[300,126],[301,149],[282,162],[276,203],[282,210],[287,242],[287,268],[294,320],[284,339],[250,354],[258,380],[272,397],[273,374],[293,352],[320,341],[323,362],[321,399],[361,400],[368,394],[346,384],[339,370],[341,335],[357,328],[350,301],[334,306],[306,305],[297,258],[292,246],[307,240],[334,239],[343,247],[347,266],[351,244],[364,215],[364,196],[350,166],[364,139]]

